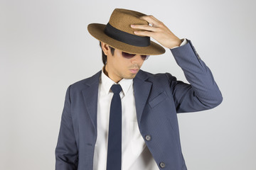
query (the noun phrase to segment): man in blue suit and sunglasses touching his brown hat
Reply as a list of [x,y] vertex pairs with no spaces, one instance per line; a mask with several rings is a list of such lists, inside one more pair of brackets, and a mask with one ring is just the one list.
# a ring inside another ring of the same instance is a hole
[[[55,149],[56,169],[185,170],[176,113],[218,106],[222,95],[190,40],[154,16],[114,9],[88,26],[105,64],[68,87]],[[148,55],[171,49],[190,84],[140,70]]]

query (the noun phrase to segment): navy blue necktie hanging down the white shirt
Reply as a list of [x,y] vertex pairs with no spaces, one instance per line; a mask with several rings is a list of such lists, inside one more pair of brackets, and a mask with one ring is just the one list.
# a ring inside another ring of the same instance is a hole
[[113,84],[114,95],[110,106],[110,125],[107,145],[107,170],[121,170],[122,161],[122,104],[119,96],[122,87]]

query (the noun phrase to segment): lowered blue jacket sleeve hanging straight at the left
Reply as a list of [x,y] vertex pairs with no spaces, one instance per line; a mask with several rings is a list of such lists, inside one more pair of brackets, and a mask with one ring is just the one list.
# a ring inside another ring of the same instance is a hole
[[58,143],[55,149],[56,170],[75,170],[78,167],[78,147],[75,142],[70,106],[71,101],[69,86],[65,95]]

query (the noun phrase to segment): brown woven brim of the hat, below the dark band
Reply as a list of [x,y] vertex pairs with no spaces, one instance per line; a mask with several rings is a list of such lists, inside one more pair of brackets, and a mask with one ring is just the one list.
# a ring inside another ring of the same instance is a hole
[[158,45],[153,41],[150,41],[150,45],[147,47],[137,47],[114,40],[104,33],[105,26],[106,25],[100,23],[90,23],[87,26],[87,29],[89,33],[97,40],[105,42],[107,45],[110,45],[118,50],[122,50],[123,52],[129,52],[137,55],[161,55],[165,52],[164,47],[161,47],[161,45]]

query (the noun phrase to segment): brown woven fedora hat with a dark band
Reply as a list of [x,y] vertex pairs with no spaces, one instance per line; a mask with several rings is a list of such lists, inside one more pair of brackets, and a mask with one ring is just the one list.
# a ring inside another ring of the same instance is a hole
[[165,52],[164,47],[151,41],[149,37],[134,34],[135,29],[131,28],[132,24],[149,24],[140,19],[141,16],[145,16],[145,14],[115,8],[107,25],[90,23],[87,29],[97,40],[124,52],[138,55],[163,54]]

